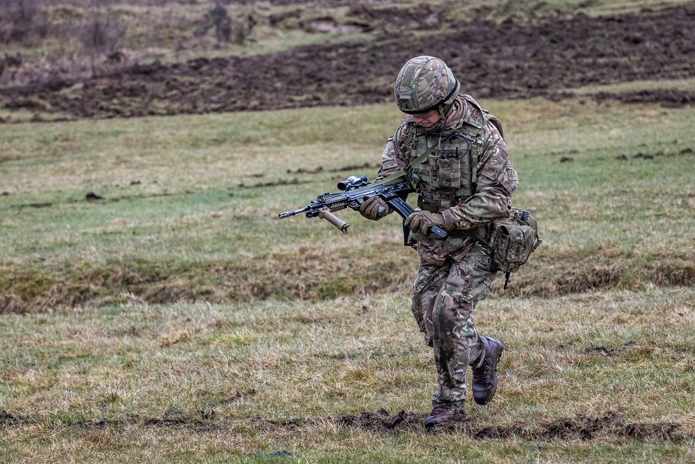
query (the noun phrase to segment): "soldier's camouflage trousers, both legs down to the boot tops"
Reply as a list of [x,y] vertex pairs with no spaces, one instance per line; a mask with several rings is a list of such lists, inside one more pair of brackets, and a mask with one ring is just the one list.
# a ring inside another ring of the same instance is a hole
[[[487,246],[470,239],[457,259],[418,249],[420,268],[413,291],[413,314],[425,343],[434,349],[437,369],[432,403],[466,399],[466,369],[484,358],[484,344],[473,323],[473,310],[490,292],[496,277],[490,271]],[[418,247],[416,247],[418,248]],[[432,259],[434,258],[434,259]]]

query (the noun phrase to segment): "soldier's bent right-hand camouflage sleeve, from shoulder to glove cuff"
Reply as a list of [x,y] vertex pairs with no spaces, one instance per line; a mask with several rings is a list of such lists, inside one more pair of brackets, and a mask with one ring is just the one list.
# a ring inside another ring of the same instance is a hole
[[509,214],[518,177],[500,131],[491,122],[486,129],[479,151],[475,195],[441,211],[449,229],[471,229]]

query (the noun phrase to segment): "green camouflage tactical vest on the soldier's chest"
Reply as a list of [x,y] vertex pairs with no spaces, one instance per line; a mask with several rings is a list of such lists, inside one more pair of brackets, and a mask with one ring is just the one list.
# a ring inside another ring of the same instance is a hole
[[426,161],[412,167],[411,179],[418,192],[420,209],[435,213],[475,195],[477,163],[482,157],[483,135],[488,120],[502,133],[495,116],[481,109],[475,100],[466,98],[466,102],[480,110],[480,127],[464,122],[455,134],[441,137],[439,134],[416,134],[416,131],[412,131],[405,144],[409,148],[409,162],[417,159],[433,144],[437,145]]

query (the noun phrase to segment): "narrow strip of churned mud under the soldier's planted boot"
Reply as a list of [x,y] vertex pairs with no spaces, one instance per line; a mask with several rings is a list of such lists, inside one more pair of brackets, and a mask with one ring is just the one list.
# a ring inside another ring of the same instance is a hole
[[[393,433],[417,433],[423,431],[425,419],[423,413],[407,413],[402,410],[395,415],[380,409],[363,411],[357,415],[316,417],[310,419],[290,418],[282,421],[263,419],[262,417],[225,417],[214,410],[199,410],[185,413],[180,410],[167,410],[162,417],[145,417],[134,413],[125,413],[121,417],[101,419],[97,422],[74,422],[76,429],[103,430],[121,428],[124,425],[142,427],[183,427],[193,431],[210,431],[230,429],[234,425],[244,424],[263,432],[293,433],[299,429],[329,427],[329,429],[350,428],[368,431],[378,435]],[[0,430],[30,426],[42,423],[41,417],[20,416],[0,410]],[[331,424],[331,425],[328,425]],[[577,414],[574,417],[559,417],[539,424],[515,422],[512,426],[489,426],[476,423],[468,418],[448,424],[432,433],[465,435],[475,440],[605,440],[619,439],[635,442],[687,442],[694,437],[683,429],[679,422],[628,422],[622,413],[607,410],[600,416]],[[277,451],[276,451],[277,452]],[[279,451],[286,453],[286,451]],[[287,456],[287,455],[283,455]]]

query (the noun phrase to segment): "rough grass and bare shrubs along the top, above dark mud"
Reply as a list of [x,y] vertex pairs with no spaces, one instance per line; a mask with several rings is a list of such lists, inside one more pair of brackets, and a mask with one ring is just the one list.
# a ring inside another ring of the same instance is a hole
[[[427,17],[427,29],[441,31],[453,29],[457,22],[480,13],[503,22],[509,17],[548,13],[614,15],[687,3],[690,2],[2,0],[0,42],[6,54],[19,54],[36,65],[60,62],[77,70],[85,64],[84,58],[92,54],[108,65],[124,60],[178,61],[215,54],[272,53],[327,40],[398,33],[414,26],[423,31],[420,22]],[[224,29],[220,25],[227,21],[215,20],[217,15],[211,14],[217,5],[227,11],[229,35],[218,35]]]

